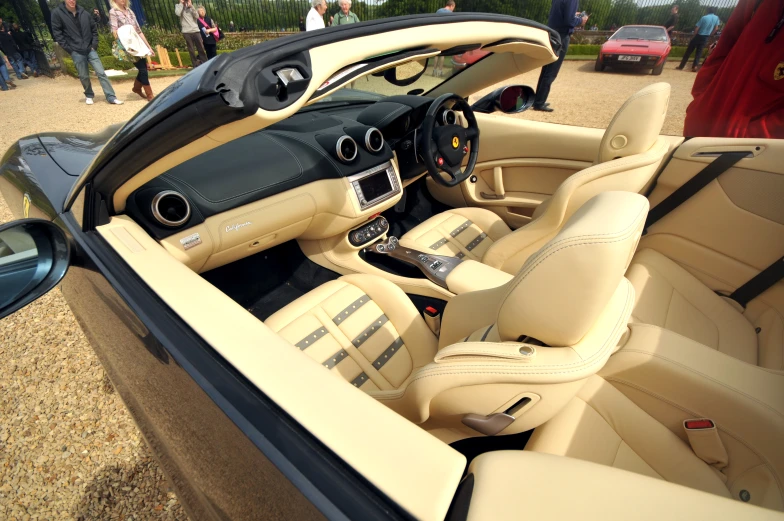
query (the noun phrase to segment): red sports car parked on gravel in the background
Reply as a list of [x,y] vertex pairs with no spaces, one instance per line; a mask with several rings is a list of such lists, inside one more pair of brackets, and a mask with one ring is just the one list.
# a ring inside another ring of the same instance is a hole
[[664,27],[624,25],[602,45],[596,58],[597,71],[605,67],[642,67],[659,75],[670,54],[670,37]]

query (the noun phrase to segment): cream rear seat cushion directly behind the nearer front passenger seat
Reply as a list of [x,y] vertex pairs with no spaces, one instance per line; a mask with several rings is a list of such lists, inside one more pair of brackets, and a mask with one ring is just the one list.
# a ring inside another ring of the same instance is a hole
[[568,456],[730,497],[718,475],[683,440],[622,392],[592,376],[526,450]]

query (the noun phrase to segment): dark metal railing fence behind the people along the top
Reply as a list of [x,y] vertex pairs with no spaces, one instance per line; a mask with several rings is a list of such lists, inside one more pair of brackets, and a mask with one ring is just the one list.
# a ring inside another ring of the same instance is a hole
[[[178,0],[132,0],[141,2],[147,23],[170,31],[179,31],[174,15]],[[456,12],[500,13],[547,23],[551,0],[456,0]],[[194,4],[199,0],[194,0]],[[234,22],[237,31],[297,31],[300,18],[310,9],[308,0],[203,0],[208,15],[224,30]],[[669,2],[666,0],[580,0],[580,10],[590,18],[586,29],[609,30],[628,24],[663,25],[673,3],[680,7],[676,29],[691,31],[707,7],[717,8],[726,22],[737,0],[699,0]],[[327,18],[340,10],[337,1],[328,1]],[[390,16],[433,13],[444,6],[443,0],[354,0],[351,10],[360,20]]]

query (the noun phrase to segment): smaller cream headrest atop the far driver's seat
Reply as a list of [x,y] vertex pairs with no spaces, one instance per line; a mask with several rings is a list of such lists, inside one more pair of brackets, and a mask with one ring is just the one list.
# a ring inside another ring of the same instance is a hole
[[626,100],[604,132],[597,163],[647,152],[661,133],[669,102],[669,83],[648,85]]

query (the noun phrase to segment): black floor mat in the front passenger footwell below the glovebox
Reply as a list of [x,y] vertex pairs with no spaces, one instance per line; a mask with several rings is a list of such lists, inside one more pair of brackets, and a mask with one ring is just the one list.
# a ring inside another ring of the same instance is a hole
[[202,276],[256,318],[266,320],[340,274],[308,260],[296,241],[289,241]]

